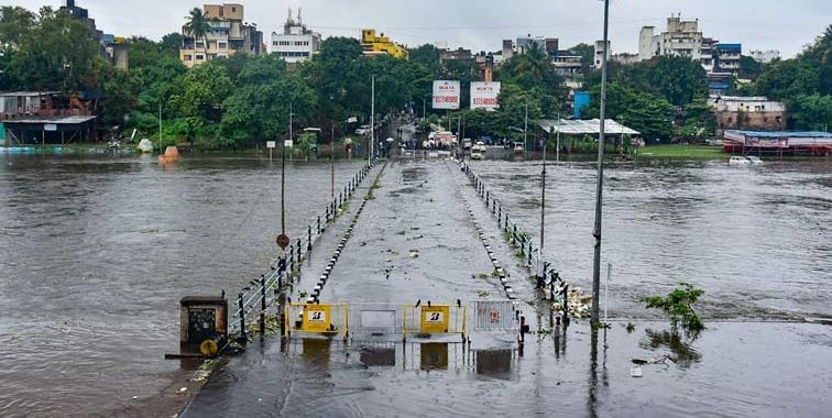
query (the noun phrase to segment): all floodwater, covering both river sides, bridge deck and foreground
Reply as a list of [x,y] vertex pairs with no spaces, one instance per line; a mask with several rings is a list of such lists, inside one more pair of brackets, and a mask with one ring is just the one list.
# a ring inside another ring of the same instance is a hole
[[[162,360],[178,350],[178,299],[236,293],[277,254],[276,163],[0,163],[3,416],[107,414],[132,396],[155,395],[178,367]],[[360,164],[339,163],[337,177],[349,178]],[[472,166],[536,237],[539,165]],[[565,163],[548,172],[546,255],[588,287],[593,167]],[[287,230],[296,231],[328,201],[329,166],[289,164],[286,178]],[[391,163],[381,186],[322,297],[501,297],[493,280],[477,277],[492,267],[466,210],[500,234],[456,165]],[[822,416],[832,408],[829,327],[758,322],[832,316],[832,163],[620,166],[607,170],[606,191],[611,317],[657,319],[636,299],[683,280],[705,289],[708,321],[743,322],[712,323],[698,339],[674,339],[661,322],[636,321],[633,333],[614,323],[595,340],[574,321],[539,341],[529,337],[523,355],[513,336],[473,336],[470,351],[441,341],[267,342],[231,360],[188,414]],[[330,241],[343,228],[328,231]],[[324,264],[316,263],[305,274],[317,277]],[[521,296],[529,295],[518,267],[507,267]],[[304,278],[302,287],[313,284]],[[663,354],[677,363],[645,365],[644,377],[630,377],[632,358]]]

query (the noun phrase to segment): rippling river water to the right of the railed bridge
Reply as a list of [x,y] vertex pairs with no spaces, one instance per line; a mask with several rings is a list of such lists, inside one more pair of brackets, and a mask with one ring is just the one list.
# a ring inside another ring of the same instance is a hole
[[[514,221],[539,237],[539,162],[473,162]],[[591,286],[595,165],[547,166],[545,256]],[[705,316],[832,316],[832,161],[622,165],[605,170],[602,276],[610,312],[644,318],[637,299],[687,282]]]

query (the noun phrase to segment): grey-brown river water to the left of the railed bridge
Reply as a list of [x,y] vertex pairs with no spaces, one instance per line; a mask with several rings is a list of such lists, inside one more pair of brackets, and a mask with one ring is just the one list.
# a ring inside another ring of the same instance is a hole
[[[236,294],[277,256],[280,175],[280,160],[0,154],[0,416],[106,414],[164,388],[179,298]],[[287,232],[329,196],[328,164],[288,163]]]

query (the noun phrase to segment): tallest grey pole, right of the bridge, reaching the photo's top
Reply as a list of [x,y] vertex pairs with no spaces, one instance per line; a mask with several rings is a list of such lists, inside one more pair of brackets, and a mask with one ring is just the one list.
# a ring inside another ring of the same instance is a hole
[[604,187],[604,128],[606,124],[606,56],[610,54],[607,42],[610,29],[610,0],[604,0],[604,54],[601,57],[601,105],[598,134],[598,184],[595,185],[595,228],[592,235],[595,238],[595,254],[592,260],[592,310],[590,312],[590,323],[596,327],[599,319],[599,297],[601,294],[601,216],[603,207],[603,187]]

